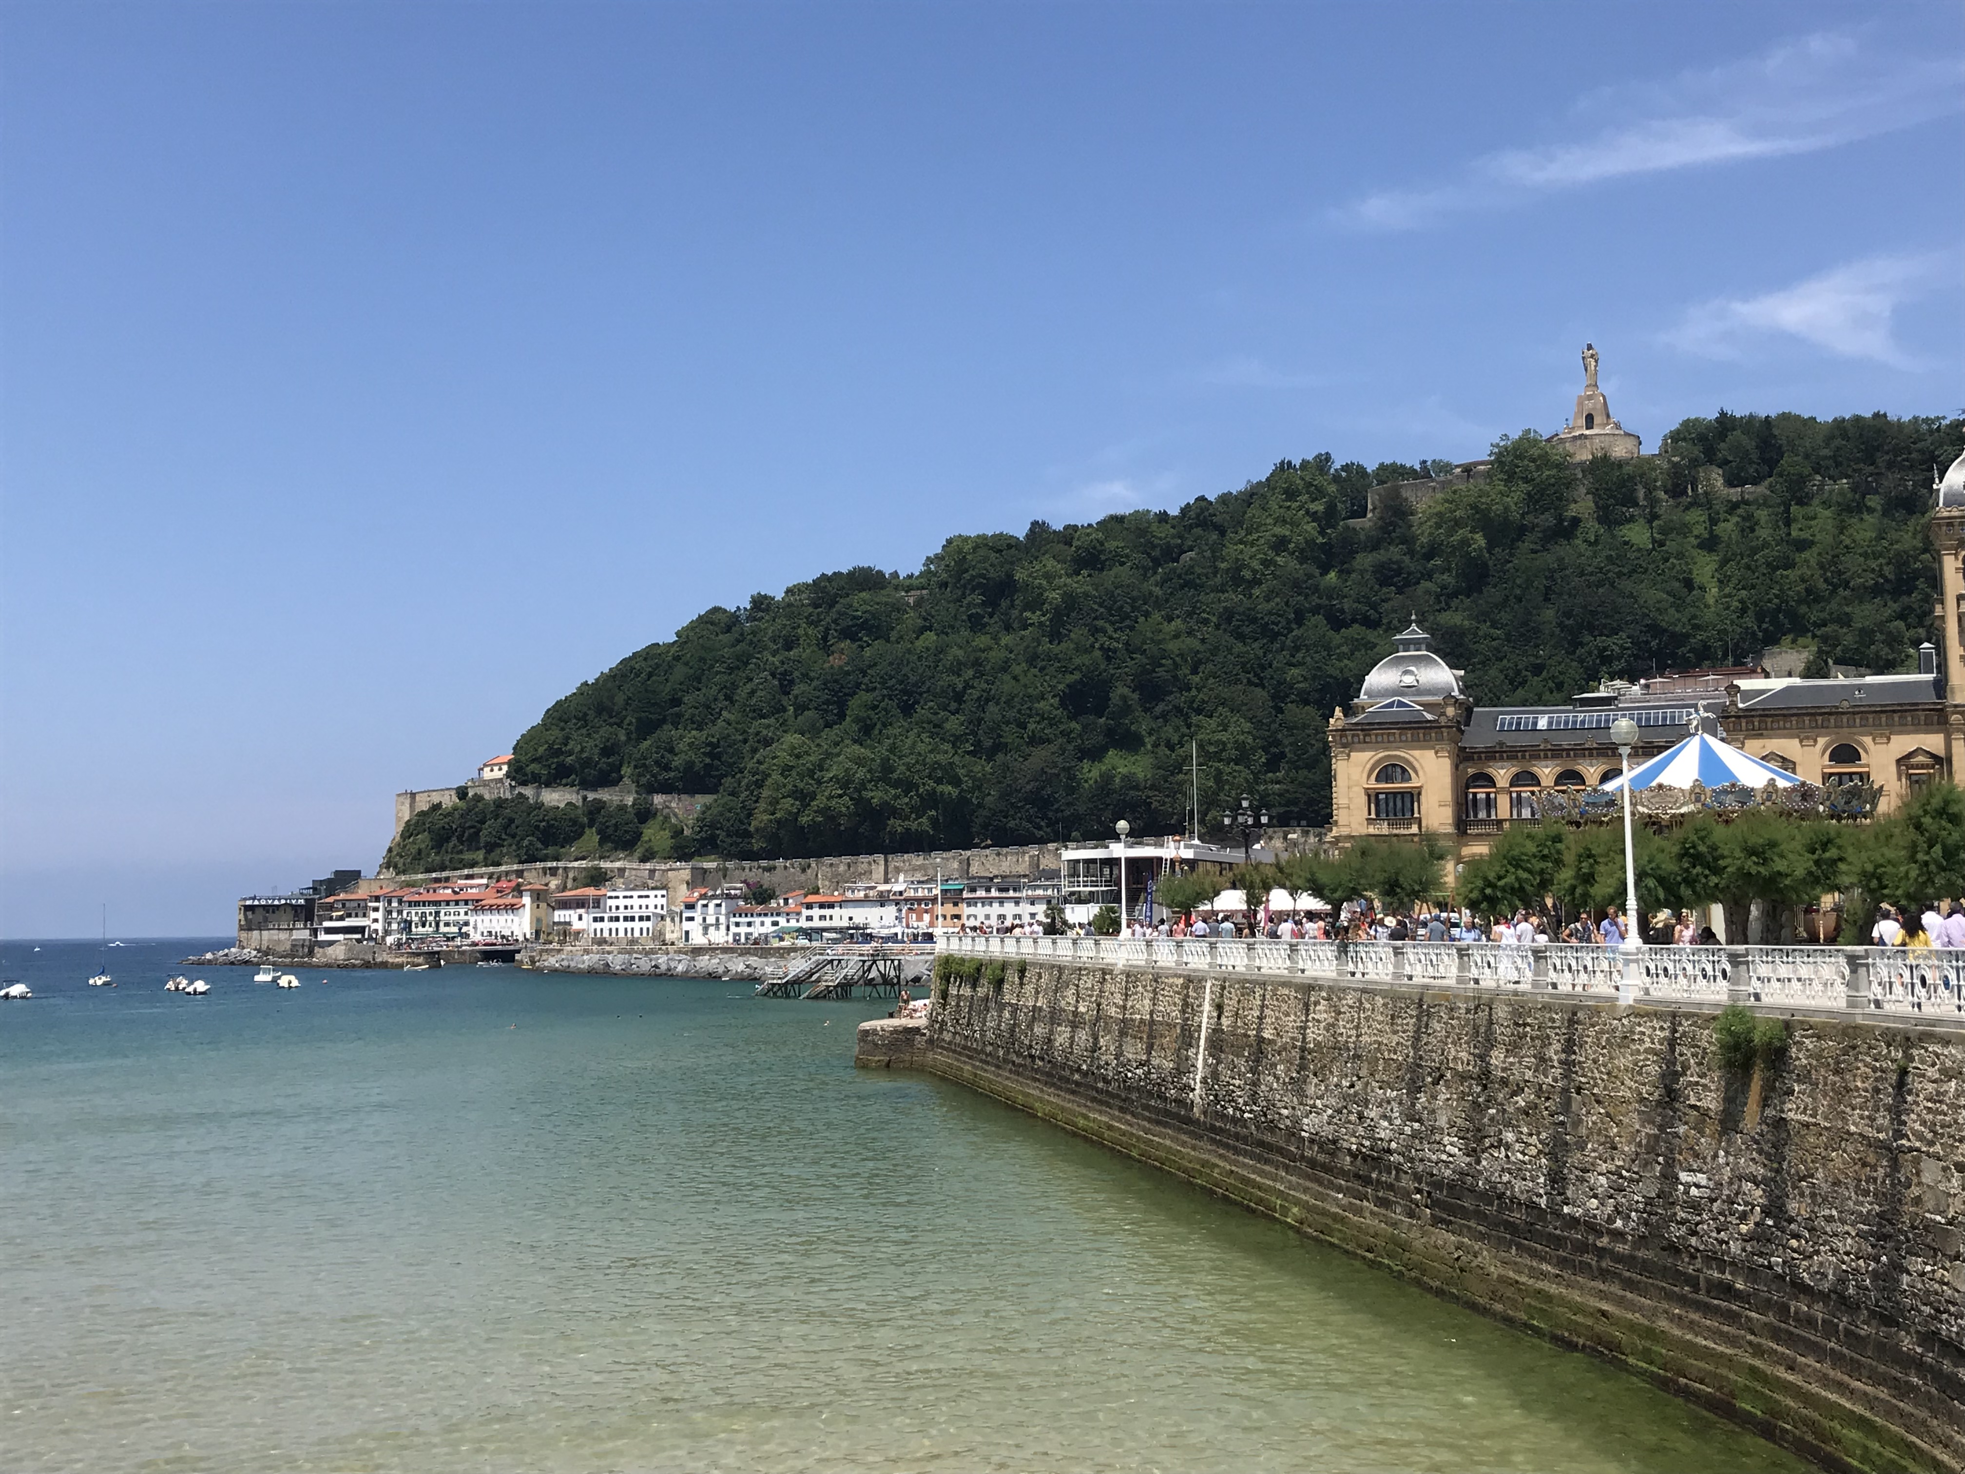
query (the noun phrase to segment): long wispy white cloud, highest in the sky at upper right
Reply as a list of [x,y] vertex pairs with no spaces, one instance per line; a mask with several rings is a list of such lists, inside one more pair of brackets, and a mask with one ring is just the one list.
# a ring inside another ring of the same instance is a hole
[[1493,208],[1605,179],[1770,159],[1873,138],[1965,106],[1965,57],[1873,55],[1857,35],[1818,33],[1713,71],[1578,100],[1588,132],[1501,149],[1438,185],[1385,189],[1334,216],[1413,230],[1456,210]]

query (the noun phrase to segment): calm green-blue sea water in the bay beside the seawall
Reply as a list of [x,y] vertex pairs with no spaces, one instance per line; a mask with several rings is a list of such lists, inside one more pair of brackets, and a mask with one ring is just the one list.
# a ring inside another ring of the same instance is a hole
[[[6,943],[8,1470],[1798,1470],[992,1101],[876,1006]],[[320,979],[330,983],[322,985]]]

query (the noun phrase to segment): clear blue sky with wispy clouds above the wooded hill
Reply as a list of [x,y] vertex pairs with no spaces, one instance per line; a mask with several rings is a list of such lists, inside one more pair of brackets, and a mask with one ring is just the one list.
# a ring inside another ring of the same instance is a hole
[[0,934],[373,869],[711,603],[1965,405],[1965,12],[12,4]]

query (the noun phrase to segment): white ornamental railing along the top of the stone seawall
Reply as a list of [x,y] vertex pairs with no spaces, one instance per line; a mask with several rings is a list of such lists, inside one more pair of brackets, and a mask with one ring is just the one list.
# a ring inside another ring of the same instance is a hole
[[1965,949],[1639,947],[1627,979],[1621,949],[1578,943],[943,935],[935,945],[961,957],[1582,992],[1627,1002],[1739,1002],[1965,1024]]

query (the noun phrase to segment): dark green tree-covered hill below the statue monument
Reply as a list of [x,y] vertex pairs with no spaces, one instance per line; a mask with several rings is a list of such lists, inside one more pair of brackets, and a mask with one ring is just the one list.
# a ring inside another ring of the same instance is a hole
[[511,776],[715,792],[656,843],[790,857],[1177,831],[1197,739],[1205,812],[1248,792],[1317,823],[1324,721],[1413,615],[1489,704],[1784,639],[1904,668],[1932,637],[1932,466],[1961,440],[1719,413],[1574,468],[1525,430],[1489,480],[1370,523],[1374,480],[1421,472],[1315,456],[1177,513],[955,537],[918,574],[709,609],[556,702]]

